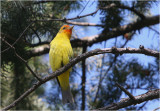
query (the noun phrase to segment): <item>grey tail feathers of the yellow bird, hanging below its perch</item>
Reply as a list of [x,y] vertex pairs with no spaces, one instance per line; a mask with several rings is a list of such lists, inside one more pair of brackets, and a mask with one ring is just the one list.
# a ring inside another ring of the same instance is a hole
[[62,89],[62,101],[63,104],[65,103],[74,103],[74,99],[70,90],[70,87],[68,87],[67,89]]

